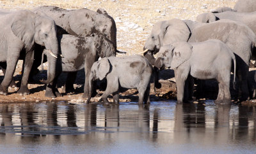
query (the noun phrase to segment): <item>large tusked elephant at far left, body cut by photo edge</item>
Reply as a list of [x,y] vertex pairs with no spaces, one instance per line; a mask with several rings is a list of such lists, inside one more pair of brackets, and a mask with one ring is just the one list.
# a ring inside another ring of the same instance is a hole
[[[33,64],[35,44],[45,46],[54,55],[58,55],[55,22],[29,10],[5,11],[0,13],[0,21],[0,63],[7,64],[0,94],[7,94],[19,58],[24,59],[25,67],[18,93],[29,94],[28,76]],[[43,83],[51,83],[55,76],[56,58],[50,56],[48,59],[51,67]]]

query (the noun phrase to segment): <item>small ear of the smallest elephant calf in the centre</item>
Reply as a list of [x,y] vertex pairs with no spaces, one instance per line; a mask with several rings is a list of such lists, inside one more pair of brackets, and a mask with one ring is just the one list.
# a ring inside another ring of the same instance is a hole
[[99,79],[104,79],[110,71],[110,63],[109,60],[105,57],[99,61],[98,71],[99,71]]

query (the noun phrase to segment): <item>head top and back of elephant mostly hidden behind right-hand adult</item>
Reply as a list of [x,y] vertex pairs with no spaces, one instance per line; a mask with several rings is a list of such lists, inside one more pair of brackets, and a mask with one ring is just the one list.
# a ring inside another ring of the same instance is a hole
[[236,22],[242,22],[250,27],[250,29],[252,29],[252,31],[256,34],[256,11],[252,13],[239,13],[234,11],[225,11],[222,13],[202,13],[196,17],[196,22],[209,23],[220,19],[229,19]]

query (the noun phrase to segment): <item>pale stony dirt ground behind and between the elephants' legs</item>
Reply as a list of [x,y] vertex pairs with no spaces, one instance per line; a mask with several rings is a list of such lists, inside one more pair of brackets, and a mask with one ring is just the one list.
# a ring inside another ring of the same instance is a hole
[[[200,13],[214,10],[221,6],[228,6],[233,8],[236,0],[155,0],[155,1],[131,1],[131,0],[15,0],[15,1],[0,1],[0,8],[10,10],[29,9],[32,10],[36,6],[52,5],[59,6],[66,9],[88,8],[96,11],[98,8],[104,8],[108,11],[116,22],[117,27],[117,47],[118,50],[127,52],[127,55],[134,55],[142,52],[143,45],[150,33],[154,23],[161,20],[168,20],[171,18],[180,18],[182,20],[195,20]],[[118,55],[122,56],[122,55]],[[22,60],[19,60],[17,69],[14,74],[14,80],[18,87],[20,84],[20,71],[22,68]],[[40,67],[39,67],[40,69]],[[44,69],[47,69],[47,63],[44,64]],[[255,72],[253,72],[255,73]],[[251,73],[252,74],[252,73]],[[8,89],[8,95],[0,95],[0,102],[44,102],[44,101],[67,101],[67,102],[83,102],[83,83],[84,72],[80,71],[76,84],[75,94],[63,94],[63,97],[54,99],[44,97],[45,85],[40,83],[40,79],[46,76],[46,71],[34,76],[35,81],[29,83],[29,95],[16,94],[18,88]],[[160,73],[162,88],[154,92],[153,83],[151,83],[150,98],[151,101],[161,99],[175,99],[175,80],[174,74],[171,70],[164,70]],[[3,80],[3,72],[0,70],[0,81]],[[65,82],[65,73],[61,75],[58,81],[58,90],[63,92],[62,88]],[[214,85],[214,84],[213,84]],[[209,87],[209,94],[212,98],[216,97],[216,85]],[[217,88],[218,90],[218,88]],[[131,89],[123,92],[120,96],[120,101],[138,101],[137,90]],[[98,91],[102,94],[102,91]],[[100,97],[95,97],[92,101],[99,101]],[[111,100],[110,100],[111,101]],[[251,103],[252,104],[252,103]]]

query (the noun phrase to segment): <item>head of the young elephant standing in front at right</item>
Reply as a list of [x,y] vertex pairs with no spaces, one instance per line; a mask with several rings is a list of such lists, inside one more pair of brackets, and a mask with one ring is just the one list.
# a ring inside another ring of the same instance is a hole
[[164,67],[175,69],[191,57],[192,48],[189,43],[184,41],[162,46],[157,55],[155,66],[159,69],[164,69]]

